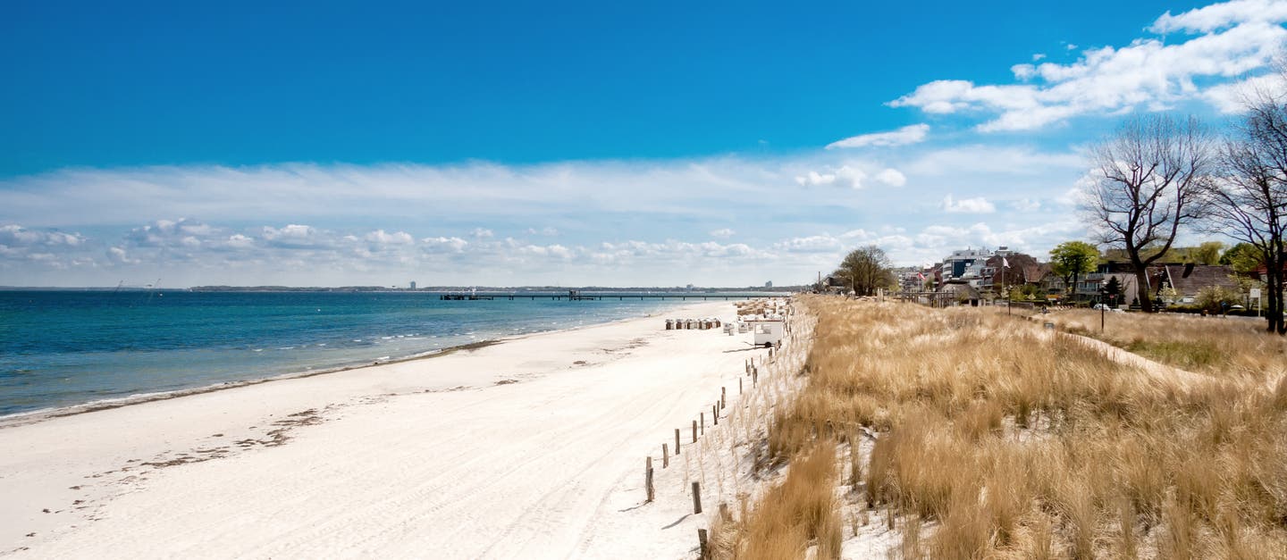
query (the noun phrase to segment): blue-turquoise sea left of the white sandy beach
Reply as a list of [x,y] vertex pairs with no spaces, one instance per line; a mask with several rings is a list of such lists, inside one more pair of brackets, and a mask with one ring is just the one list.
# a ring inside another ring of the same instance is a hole
[[0,417],[395,360],[694,303],[439,296],[0,291]]

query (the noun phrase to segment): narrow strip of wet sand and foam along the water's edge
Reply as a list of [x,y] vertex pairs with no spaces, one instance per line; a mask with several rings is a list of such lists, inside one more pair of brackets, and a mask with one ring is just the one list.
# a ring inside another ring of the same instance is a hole
[[[677,304],[676,306],[673,306],[671,309],[682,309],[682,308],[694,306],[694,305],[701,305],[701,304],[691,304],[691,303],[690,304]],[[649,313],[649,314],[645,314],[642,317],[641,315],[620,317],[620,318],[609,319],[609,321],[604,321],[604,322],[596,322],[596,323],[588,323],[588,324],[574,324],[574,326],[570,326],[570,327],[552,328],[552,330],[548,330],[548,331],[534,331],[534,332],[525,332],[525,333],[520,333],[520,335],[498,336],[498,337],[494,337],[494,339],[484,339],[484,340],[479,340],[479,341],[474,341],[474,342],[465,342],[465,344],[458,344],[458,345],[452,345],[452,346],[444,346],[444,348],[440,348],[440,349],[436,349],[436,350],[421,351],[421,353],[416,353],[416,354],[411,354],[411,355],[404,355],[404,357],[399,357],[399,358],[390,358],[390,359],[384,359],[384,360],[378,360],[377,359],[377,360],[373,360],[371,363],[367,363],[364,360],[363,362],[353,362],[353,363],[347,363],[347,364],[326,367],[326,368],[320,368],[320,369],[304,369],[304,371],[296,371],[296,372],[269,375],[266,377],[251,377],[251,378],[242,378],[242,380],[233,380],[233,381],[220,381],[220,382],[208,384],[208,385],[199,385],[199,386],[183,387],[183,389],[171,389],[171,390],[165,390],[165,391],[136,393],[136,394],[125,395],[125,397],[111,397],[111,398],[106,398],[106,399],[94,399],[94,400],[88,400],[88,402],[77,403],[77,404],[68,404],[68,406],[60,406],[60,407],[46,407],[46,408],[37,408],[37,409],[33,409],[33,411],[15,412],[15,413],[10,413],[10,415],[0,415],[0,430],[5,430],[5,429],[9,429],[9,427],[17,427],[17,426],[26,426],[28,424],[42,422],[42,421],[46,421],[46,420],[50,420],[50,418],[62,418],[62,417],[67,417],[67,416],[85,415],[85,413],[89,413],[89,412],[109,411],[109,409],[113,409],[113,408],[131,407],[131,406],[136,406],[136,404],[145,404],[145,403],[153,403],[153,402],[160,402],[160,400],[170,400],[170,399],[176,399],[176,398],[183,398],[183,397],[201,395],[201,394],[223,391],[223,390],[229,390],[229,389],[239,389],[239,387],[261,385],[261,384],[273,382],[273,381],[288,381],[288,380],[297,380],[297,378],[308,378],[308,377],[314,377],[314,376],[320,376],[320,375],[341,373],[341,372],[364,369],[364,368],[376,367],[376,366],[387,366],[387,364],[414,362],[414,360],[421,360],[421,359],[440,358],[440,357],[450,355],[453,353],[462,351],[462,350],[467,350],[467,351],[468,350],[476,350],[476,349],[481,349],[481,348],[486,348],[486,346],[492,346],[492,345],[497,345],[497,344],[505,344],[505,342],[510,342],[510,341],[515,341],[515,340],[528,339],[528,337],[532,337],[532,336],[548,335],[548,333],[565,332],[565,331],[577,331],[577,330],[583,330],[583,328],[592,328],[592,327],[598,327],[598,326],[604,326],[604,324],[613,324],[613,323],[618,323],[618,322],[624,322],[624,321],[631,321],[631,319],[640,319],[640,318],[650,318],[650,317],[660,317],[660,314]]]

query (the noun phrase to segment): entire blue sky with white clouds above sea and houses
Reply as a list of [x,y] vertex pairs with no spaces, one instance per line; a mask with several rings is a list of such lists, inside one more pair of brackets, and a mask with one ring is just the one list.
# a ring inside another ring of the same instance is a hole
[[1232,122],[1287,42],[1287,0],[634,4],[6,3],[0,286],[1044,259],[1089,147]]

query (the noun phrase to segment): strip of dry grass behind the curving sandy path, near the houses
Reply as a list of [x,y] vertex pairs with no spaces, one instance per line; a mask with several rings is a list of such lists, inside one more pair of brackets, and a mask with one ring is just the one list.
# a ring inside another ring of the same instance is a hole
[[1264,332],[1264,322],[1183,314],[1099,312],[1045,315],[1060,328],[1103,340],[1144,358],[1194,373],[1277,378],[1287,372],[1287,339]]

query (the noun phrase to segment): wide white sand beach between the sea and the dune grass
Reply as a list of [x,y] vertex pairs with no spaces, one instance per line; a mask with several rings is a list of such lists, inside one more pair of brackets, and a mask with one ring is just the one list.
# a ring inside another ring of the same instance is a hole
[[644,457],[764,350],[664,317],[0,427],[0,555],[689,555]]

